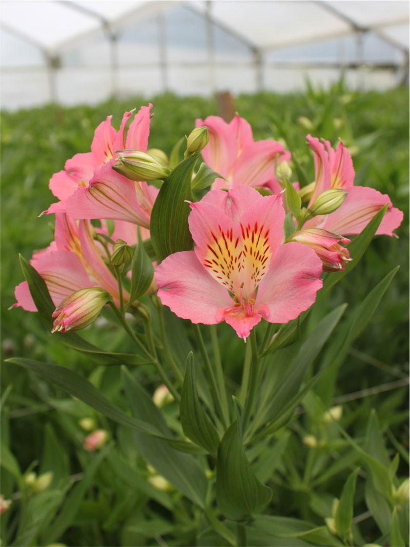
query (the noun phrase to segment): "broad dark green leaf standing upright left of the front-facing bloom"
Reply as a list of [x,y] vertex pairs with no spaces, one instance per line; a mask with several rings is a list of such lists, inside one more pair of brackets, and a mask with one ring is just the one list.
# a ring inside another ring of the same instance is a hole
[[188,226],[192,201],[191,180],[195,163],[200,153],[196,152],[181,161],[168,175],[156,197],[151,213],[151,243],[159,260],[178,251],[190,251],[193,246]]

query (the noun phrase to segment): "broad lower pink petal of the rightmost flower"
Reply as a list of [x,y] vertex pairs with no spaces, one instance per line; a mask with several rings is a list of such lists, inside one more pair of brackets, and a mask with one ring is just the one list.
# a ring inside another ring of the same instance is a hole
[[342,205],[326,217],[321,228],[344,236],[360,234],[386,203],[390,205],[376,234],[393,236],[393,230],[398,228],[403,220],[403,213],[391,206],[388,195],[364,186],[349,188]]

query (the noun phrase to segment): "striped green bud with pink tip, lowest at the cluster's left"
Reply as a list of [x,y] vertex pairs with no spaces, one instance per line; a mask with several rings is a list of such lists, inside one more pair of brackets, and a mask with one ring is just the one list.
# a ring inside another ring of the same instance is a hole
[[109,300],[111,296],[99,287],[77,290],[67,296],[52,314],[56,319],[51,332],[84,329],[97,318]]

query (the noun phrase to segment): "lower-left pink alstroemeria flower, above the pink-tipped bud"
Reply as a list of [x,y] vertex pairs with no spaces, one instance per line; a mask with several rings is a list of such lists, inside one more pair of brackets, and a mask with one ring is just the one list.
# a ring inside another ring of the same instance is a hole
[[[93,239],[92,230],[87,221],[77,225],[66,214],[56,214],[55,241],[33,254],[30,263],[44,279],[56,307],[77,290],[90,287],[103,288],[119,304],[118,281],[104,262],[104,250]],[[17,285],[14,294],[14,306],[37,311],[27,281]],[[127,301],[130,295],[123,296]]]

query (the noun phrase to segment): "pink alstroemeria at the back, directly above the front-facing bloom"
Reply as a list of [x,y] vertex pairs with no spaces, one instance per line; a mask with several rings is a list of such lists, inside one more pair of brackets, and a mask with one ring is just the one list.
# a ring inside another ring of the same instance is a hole
[[275,167],[282,160],[290,160],[290,153],[285,152],[282,144],[271,139],[255,142],[249,123],[239,115],[230,124],[218,116],[197,119],[196,127],[201,126],[206,126],[209,133],[209,143],[202,150],[203,160],[226,179],[215,178],[213,190],[242,184],[282,190],[277,183]]

